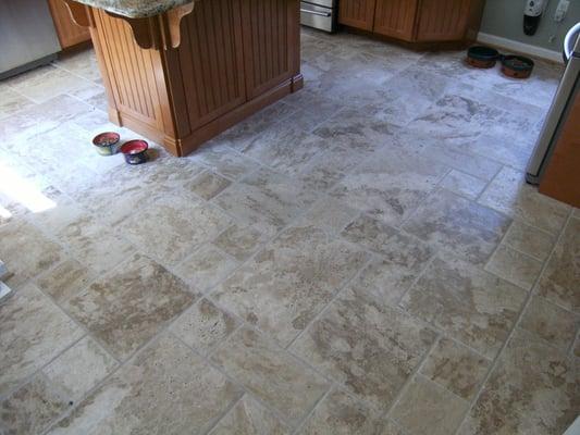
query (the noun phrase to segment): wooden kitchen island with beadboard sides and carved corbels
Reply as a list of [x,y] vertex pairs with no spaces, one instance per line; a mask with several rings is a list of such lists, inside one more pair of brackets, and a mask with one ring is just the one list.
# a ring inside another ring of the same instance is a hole
[[110,120],[174,156],[303,87],[298,0],[65,0]]

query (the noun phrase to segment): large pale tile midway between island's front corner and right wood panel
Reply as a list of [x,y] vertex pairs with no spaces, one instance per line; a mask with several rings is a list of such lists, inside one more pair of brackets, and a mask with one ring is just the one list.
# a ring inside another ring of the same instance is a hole
[[398,225],[446,172],[443,164],[390,148],[371,156],[347,174],[331,196],[387,224]]

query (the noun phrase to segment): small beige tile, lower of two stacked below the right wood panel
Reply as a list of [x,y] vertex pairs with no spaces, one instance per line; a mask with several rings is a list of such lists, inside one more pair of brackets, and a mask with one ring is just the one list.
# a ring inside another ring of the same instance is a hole
[[529,290],[542,271],[542,262],[499,246],[485,265],[488,272]]

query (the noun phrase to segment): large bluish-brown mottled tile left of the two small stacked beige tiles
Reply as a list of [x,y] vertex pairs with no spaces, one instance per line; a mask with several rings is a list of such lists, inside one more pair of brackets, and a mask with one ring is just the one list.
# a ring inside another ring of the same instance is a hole
[[436,248],[477,264],[485,263],[510,220],[494,210],[439,190],[403,226]]

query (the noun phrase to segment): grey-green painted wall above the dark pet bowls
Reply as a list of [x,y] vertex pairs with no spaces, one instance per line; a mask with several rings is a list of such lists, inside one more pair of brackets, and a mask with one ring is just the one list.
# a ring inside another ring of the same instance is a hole
[[522,28],[525,0],[488,0],[480,32],[548,50],[562,51],[566,32],[580,22],[580,0],[570,0],[566,18],[556,23],[554,12],[558,1],[550,0],[538,32],[534,36],[528,36],[523,34]]

